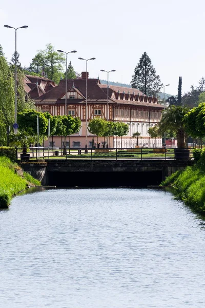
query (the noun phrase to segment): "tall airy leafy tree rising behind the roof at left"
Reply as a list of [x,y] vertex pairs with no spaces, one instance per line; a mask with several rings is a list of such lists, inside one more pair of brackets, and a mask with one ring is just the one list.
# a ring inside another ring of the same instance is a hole
[[39,50],[32,59],[30,70],[35,70],[37,73],[43,71],[43,74],[46,74],[49,79],[59,83],[64,62],[64,54],[55,51],[51,44],[47,44],[46,49]]

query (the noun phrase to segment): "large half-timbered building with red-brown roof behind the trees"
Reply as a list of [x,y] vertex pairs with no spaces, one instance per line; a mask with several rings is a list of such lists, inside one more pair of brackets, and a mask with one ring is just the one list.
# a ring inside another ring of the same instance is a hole
[[[34,81],[34,79],[31,79]],[[28,84],[27,84],[28,85]],[[28,85],[29,86],[29,85]],[[54,85],[49,85],[52,87]],[[105,120],[114,122],[124,122],[129,124],[130,130],[128,136],[122,137],[122,147],[135,147],[136,139],[132,138],[133,133],[140,132],[138,145],[141,147],[161,146],[161,138],[151,139],[148,134],[149,127],[155,126],[161,118],[161,110],[164,107],[158,104],[157,99],[147,97],[141,91],[132,88],[109,86],[100,84],[98,79],[87,80],[87,121],[94,117],[101,117]],[[32,86],[31,86],[32,88]],[[82,72],[82,78],[67,81],[60,80],[57,86],[44,92],[35,98],[35,105],[41,111],[49,111],[52,115],[71,114],[73,117],[79,117],[81,128],[79,133],[70,136],[70,147],[86,146],[86,72]],[[34,87],[35,95],[39,90]],[[34,96],[35,96],[34,95]],[[66,104],[67,95],[67,104]],[[67,106],[67,110],[65,110]],[[107,119],[108,114],[108,119]],[[92,144],[92,139],[96,142],[96,136],[88,132],[88,147]],[[110,147],[121,147],[120,138],[110,138]],[[103,141],[103,138],[99,138]],[[54,146],[61,146],[61,138],[54,137]],[[68,143],[66,144],[68,146]]]

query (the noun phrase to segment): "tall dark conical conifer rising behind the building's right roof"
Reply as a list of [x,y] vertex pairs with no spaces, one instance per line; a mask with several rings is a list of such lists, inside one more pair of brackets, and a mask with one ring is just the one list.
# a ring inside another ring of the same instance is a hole
[[135,67],[131,81],[132,88],[136,88],[146,95],[156,95],[161,87],[159,75],[156,75],[151,59],[147,52],[144,52]]

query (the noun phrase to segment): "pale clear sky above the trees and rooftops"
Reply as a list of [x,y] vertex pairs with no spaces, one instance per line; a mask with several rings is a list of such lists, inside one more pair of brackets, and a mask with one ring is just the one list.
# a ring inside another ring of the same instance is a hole
[[17,51],[23,66],[29,66],[37,50],[51,43],[55,49],[77,50],[68,55],[77,72],[91,78],[130,83],[134,68],[145,51],[151,58],[166,92],[177,94],[182,76],[182,93],[205,76],[204,0],[7,0],[0,6],[0,44],[11,59]]

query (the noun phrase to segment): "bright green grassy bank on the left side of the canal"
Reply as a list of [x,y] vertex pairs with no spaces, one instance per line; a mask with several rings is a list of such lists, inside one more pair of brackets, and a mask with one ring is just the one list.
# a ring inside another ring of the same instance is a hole
[[26,189],[29,182],[40,185],[39,181],[25,172],[23,177],[17,175],[18,169],[20,169],[19,166],[13,164],[9,158],[0,157],[0,208],[8,207],[12,197]]

